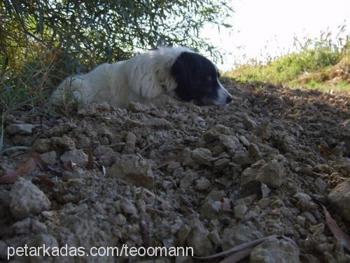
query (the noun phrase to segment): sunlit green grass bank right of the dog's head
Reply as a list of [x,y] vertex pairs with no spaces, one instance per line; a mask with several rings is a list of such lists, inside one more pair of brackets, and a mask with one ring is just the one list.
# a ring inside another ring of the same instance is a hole
[[237,81],[262,81],[291,87],[334,89],[350,92],[350,41],[309,41],[299,52],[282,55],[268,63],[237,65],[225,76]]

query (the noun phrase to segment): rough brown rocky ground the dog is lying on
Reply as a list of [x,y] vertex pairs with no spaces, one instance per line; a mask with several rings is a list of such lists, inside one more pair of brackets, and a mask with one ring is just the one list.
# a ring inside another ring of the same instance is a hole
[[[207,256],[281,235],[243,262],[349,262],[322,205],[350,234],[350,95],[229,79],[225,86],[235,96],[228,107],[168,100],[5,116],[3,149],[31,151],[0,159],[2,182],[22,175],[0,184],[0,258],[25,243],[190,245]],[[157,262],[174,261],[200,260]]]

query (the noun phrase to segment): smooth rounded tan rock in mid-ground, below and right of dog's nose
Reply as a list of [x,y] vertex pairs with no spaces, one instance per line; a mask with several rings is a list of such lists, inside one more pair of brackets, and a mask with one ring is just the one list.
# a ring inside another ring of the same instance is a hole
[[269,188],[279,188],[283,183],[284,176],[283,166],[278,161],[272,160],[260,168],[256,179]]

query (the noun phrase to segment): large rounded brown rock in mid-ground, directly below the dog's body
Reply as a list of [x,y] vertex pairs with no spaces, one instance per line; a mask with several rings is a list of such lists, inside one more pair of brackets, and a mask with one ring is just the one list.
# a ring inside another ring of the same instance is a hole
[[123,155],[107,170],[107,176],[125,180],[139,187],[151,189],[154,176],[151,166],[134,154]]

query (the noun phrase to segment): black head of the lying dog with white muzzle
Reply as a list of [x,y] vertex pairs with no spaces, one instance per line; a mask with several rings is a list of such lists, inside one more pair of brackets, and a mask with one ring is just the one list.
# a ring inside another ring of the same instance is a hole
[[218,69],[202,55],[181,53],[172,66],[172,74],[177,81],[175,93],[181,100],[202,105],[225,105],[232,101],[232,95],[218,79]]

